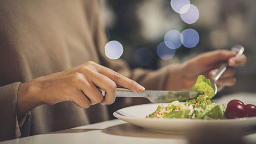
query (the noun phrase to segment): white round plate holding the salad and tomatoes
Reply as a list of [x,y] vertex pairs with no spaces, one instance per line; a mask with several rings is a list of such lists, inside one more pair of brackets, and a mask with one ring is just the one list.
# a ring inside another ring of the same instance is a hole
[[[146,115],[154,112],[159,103],[142,104],[125,107],[113,113],[118,119],[124,120],[136,126],[143,127],[145,130],[161,133],[186,134],[197,128],[207,128],[213,130],[239,129],[249,131],[255,129],[256,117],[224,119],[224,120],[201,120],[201,119],[179,119],[179,118],[145,118]],[[164,106],[167,103],[163,104]]]

